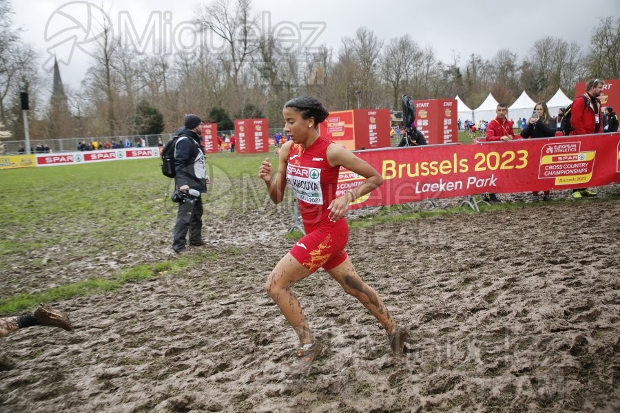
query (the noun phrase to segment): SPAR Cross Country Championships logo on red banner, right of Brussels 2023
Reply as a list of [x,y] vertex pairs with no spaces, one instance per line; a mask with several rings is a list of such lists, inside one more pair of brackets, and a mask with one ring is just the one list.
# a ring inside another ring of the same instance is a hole
[[550,143],[541,149],[539,179],[553,178],[556,185],[590,182],[596,151],[581,151],[581,142]]

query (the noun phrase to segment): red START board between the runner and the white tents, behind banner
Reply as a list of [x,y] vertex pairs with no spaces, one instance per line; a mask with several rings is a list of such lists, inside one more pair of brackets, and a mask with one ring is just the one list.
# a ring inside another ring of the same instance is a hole
[[458,142],[457,119],[455,99],[415,101],[415,126],[428,145]]

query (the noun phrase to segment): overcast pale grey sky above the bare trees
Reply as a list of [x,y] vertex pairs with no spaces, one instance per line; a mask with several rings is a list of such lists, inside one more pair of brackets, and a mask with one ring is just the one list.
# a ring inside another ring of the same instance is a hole
[[[192,20],[200,4],[207,3],[105,0],[103,10],[115,32],[121,31],[123,25],[131,25],[136,34],[143,35],[152,31],[153,26],[147,24],[149,19],[151,23],[161,22],[161,32],[168,32],[158,39],[161,45],[174,43],[175,36],[186,41],[191,39],[183,22]],[[56,52],[63,82],[72,89],[80,87],[91,61],[87,52],[93,45],[74,22],[87,23],[88,10],[95,19],[103,19],[96,8],[89,9],[89,4],[101,6],[102,3],[101,0],[12,0],[14,25],[24,30],[23,39],[39,52],[39,65],[49,69],[48,59]],[[256,12],[269,12],[261,16],[268,27],[281,28],[283,35],[300,36],[304,42],[331,46],[334,51],[340,48],[342,37],[353,36],[357,28],[365,26],[384,41],[410,34],[422,47],[433,47],[444,63],[460,56],[459,65],[464,65],[472,53],[490,59],[504,47],[522,58],[544,36],[577,41],[585,50],[601,17],[620,16],[619,0],[314,0],[305,3],[254,0],[253,5]],[[175,31],[176,34],[171,34]],[[61,44],[54,47],[56,43]],[[147,43],[143,41],[143,45]],[[41,73],[49,76],[43,69]]]

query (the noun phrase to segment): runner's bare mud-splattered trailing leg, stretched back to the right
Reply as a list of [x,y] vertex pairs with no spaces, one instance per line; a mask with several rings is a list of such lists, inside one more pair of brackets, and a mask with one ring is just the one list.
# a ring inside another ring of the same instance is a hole
[[396,324],[392,319],[382,299],[375,293],[375,290],[371,288],[364,280],[355,272],[351,259],[347,257],[342,264],[327,271],[333,279],[335,279],[344,292],[360,300],[364,307],[366,307],[372,315],[374,315],[383,328],[385,328],[388,335],[392,335],[395,332]]

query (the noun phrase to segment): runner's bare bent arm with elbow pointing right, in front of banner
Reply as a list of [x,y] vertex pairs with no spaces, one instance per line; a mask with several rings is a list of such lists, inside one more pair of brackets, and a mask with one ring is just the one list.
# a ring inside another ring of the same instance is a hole
[[327,147],[327,161],[332,167],[341,166],[366,178],[366,181],[352,191],[347,191],[340,198],[335,198],[329,206],[329,219],[338,221],[349,211],[349,204],[360,196],[374,191],[383,183],[383,177],[368,162],[353,155],[340,145]]

